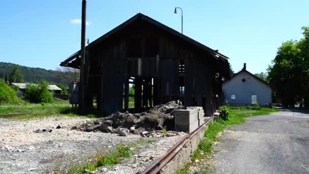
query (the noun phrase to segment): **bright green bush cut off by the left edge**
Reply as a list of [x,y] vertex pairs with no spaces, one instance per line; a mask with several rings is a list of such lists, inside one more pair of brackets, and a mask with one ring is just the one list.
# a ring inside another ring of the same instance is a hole
[[0,79],[0,104],[17,103],[19,101],[16,92],[3,79]]

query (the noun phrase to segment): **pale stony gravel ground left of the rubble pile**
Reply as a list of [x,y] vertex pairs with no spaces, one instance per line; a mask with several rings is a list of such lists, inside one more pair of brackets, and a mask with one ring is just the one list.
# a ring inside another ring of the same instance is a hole
[[[139,135],[120,137],[102,132],[71,130],[84,118],[45,118],[29,121],[0,119],[0,173],[44,173],[64,171],[82,163],[98,151],[113,148],[117,143],[140,139]],[[64,126],[55,129],[58,125]],[[52,132],[35,133],[37,129]]]

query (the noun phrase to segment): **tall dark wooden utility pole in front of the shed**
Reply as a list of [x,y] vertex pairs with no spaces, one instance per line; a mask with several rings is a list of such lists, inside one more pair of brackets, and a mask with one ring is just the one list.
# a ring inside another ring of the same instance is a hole
[[82,0],[81,10],[81,48],[80,48],[80,102],[79,108],[85,113],[85,41],[86,41],[86,0]]

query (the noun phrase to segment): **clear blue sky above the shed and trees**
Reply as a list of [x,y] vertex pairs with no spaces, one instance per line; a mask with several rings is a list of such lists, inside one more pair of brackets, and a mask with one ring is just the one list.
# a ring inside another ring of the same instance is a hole
[[[88,0],[86,38],[90,42],[143,13],[230,57],[265,72],[283,41],[302,37],[309,25],[308,0],[118,1]],[[0,6],[0,62],[56,69],[80,48],[81,0],[10,0]],[[75,19],[75,20],[74,20]]]

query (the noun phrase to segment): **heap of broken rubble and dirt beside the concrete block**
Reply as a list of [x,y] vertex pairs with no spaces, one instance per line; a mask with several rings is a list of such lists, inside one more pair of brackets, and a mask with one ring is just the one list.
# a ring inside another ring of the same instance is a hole
[[[106,118],[91,120],[83,123],[74,129],[91,132],[102,131],[106,133],[118,133],[120,136],[128,136],[130,133],[146,134],[158,137],[158,131],[166,127],[167,130],[174,129],[173,111],[176,109],[186,109],[179,100],[170,101],[166,104],[154,106],[141,113],[115,112]],[[150,132],[150,133],[149,133]],[[162,131],[161,131],[161,133]],[[150,136],[150,137],[151,137]]]

